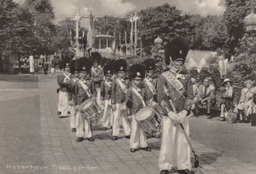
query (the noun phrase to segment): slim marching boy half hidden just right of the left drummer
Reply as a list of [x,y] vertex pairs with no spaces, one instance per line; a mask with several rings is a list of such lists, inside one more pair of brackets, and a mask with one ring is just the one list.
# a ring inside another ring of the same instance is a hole
[[103,72],[105,75],[105,81],[102,81],[101,87],[101,96],[102,96],[102,104],[104,106],[104,112],[102,116],[102,127],[103,130],[108,130],[108,126],[110,124],[110,115],[111,113],[111,85],[112,85],[112,77],[113,77],[113,64],[112,61],[108,61],[107,65],[104,65]]

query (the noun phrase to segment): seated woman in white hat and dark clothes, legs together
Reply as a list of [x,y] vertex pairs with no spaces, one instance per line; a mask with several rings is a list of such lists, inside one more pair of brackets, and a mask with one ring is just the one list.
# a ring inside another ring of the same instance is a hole
[[221,93],[219,120],[225,121],[235,97],[235,91],[231,85],[230,79],[224,80],[220,90],[222,93]]

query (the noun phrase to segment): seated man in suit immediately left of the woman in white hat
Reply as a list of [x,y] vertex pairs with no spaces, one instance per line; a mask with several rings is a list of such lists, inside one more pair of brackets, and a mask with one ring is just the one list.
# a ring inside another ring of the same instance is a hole
[[212,118],[211,109],[215,104],[215,87],[209,84],[209,78],[205,78],[203,84],[198,88],[195,101],[195,114],[198,115],[203,106],[207,106],[208,119]]

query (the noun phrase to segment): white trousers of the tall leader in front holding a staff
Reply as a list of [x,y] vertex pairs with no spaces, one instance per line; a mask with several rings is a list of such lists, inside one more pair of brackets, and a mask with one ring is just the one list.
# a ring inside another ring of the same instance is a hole
[[[162,116],[163,132],[161,138],[161,148],[159,157],[159,168],[162,170],[171,170],[174,151],[177,151],[177,169],[191,170],[190,148],[187,139],[183,134],[182,128],[174,124],[168,116]],[[185,118],[183,127],[189,136],[189,119]],[[177,136],[177,149],[174,149],[174,144]]]

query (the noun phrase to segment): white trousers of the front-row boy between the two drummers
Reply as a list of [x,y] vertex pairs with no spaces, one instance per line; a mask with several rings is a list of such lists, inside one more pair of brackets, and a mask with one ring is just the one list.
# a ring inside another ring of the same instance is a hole
[[[121,104],[115,104],[116,105],[116,109],[113,110],[113,127],[112,127],[112,135],[113,136],[119,136],[119,132],[120,132],[120,105]],[[131,125],[130,122],[127,121],[124,117],[121,118],[123,121],[123,127],[124,127],[124,132],[125,132],[125,136],[131,135]]]

